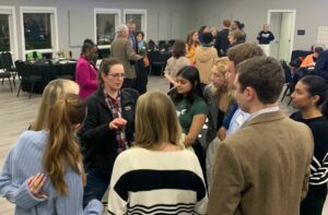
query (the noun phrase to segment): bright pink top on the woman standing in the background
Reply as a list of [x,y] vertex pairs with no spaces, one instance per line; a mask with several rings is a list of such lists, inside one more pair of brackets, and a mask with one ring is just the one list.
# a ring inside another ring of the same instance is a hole
[[75,69],[75,81],[80,86],[80,97],[86,98],[97,87],[97,70],[83,56],[79,58]]

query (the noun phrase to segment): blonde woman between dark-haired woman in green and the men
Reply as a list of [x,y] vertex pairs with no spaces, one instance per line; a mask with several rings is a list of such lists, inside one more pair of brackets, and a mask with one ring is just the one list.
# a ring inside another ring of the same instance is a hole
[[209,123],[206,135],[207,179],[209,188],[211,186],[211,172],[216,154],[218,143],[223,139],[220,136],[219,129],[222,127],[223,121],[226,118],[226,112],[230,112],[235,104],[226,76],[227,61],[227,57],[220,58],[215,61],[215,64],[211,71],[212,83],[207,85],[203,92],[209,107]]

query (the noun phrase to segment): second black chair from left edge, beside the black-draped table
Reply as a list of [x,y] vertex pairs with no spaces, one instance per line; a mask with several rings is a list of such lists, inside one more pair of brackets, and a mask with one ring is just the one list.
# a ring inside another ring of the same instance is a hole
[[21,76],[21,84],[19,87],[17,97],[20,96],[22,84],[26,83],[27,85],[30,85],[28,98],[31,98],[35,83],[42,82],[42,76],[30,74],[30,71],[27,70],[27,67],[24,61],[16,60],[15,65],[16,65],[17,74]]

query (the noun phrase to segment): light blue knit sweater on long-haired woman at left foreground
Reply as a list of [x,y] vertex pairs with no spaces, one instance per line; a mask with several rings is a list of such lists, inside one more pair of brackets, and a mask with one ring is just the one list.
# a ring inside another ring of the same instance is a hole
[[102,214],[103,205],[97,200],[91,201],[83,211],[82,177],[70,168],[65,174],[68,195],[58,196],[49,179],[42,189],[42,192],[49,196],[48,200],[36,199],[30,192],[25,181],[31,176],[44,172],[42,158],[47,143],[46,131],[25,131],[19,138],[5,158],[0,175],[0,195],[15,203],[16,215]]

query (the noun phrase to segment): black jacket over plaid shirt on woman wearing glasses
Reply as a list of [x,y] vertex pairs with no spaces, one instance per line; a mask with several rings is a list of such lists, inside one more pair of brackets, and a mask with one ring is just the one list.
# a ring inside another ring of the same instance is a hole
[[[126,138],[130,144],[133,141],[136,104],[139,93],[131,88],[124,88],[120,95],[122,118],[128,121],[125,130]],[[116,131],[109,130],[108,127],[113,119],[103,88],[97,89],[87,98],[87,116],[79,132],[86,170],[95,169],[112,175],[118,148]]]

